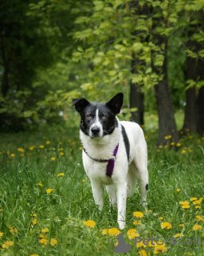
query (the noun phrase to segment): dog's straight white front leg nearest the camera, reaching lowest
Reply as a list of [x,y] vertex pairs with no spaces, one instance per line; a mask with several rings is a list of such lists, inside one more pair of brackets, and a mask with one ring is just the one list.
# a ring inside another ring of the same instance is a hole
[[117,185],[118,224],[120,226],[120,230],[123,230],[125,226],[126,200],[127,183],[124,182]]

